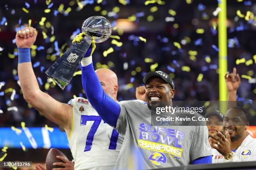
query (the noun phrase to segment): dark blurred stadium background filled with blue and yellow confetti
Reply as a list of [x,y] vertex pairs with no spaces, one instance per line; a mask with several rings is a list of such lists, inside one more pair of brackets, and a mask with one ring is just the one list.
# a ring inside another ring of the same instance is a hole
[[[26,127],[57,127],[23,99],[17,83],[15,30],[29,23],[38,30],[31,50],[38,83],[41,90],[66,103],[75,96],[85,97],[79,72],[64,90],[44,72],[71,46],[83,21],[93,15],[110,20],[112,35],[120,37],[96,44],[93,55],[95,68],[108,67],[117,74],[118,100],[134,99],[135,88],[143,85],[142,77],[150,70],[170,73],[176,88],[174,100],[218,100],[218,2],[221,0],[1,0],[0,127],[22,129],[21,122]],[[228,0],[228,70],[236,67],[241,76],[238,100],[256,100],[253,14],[256,2]],[[113,52],[104,57],[110,48]],[[3,134],[7,133],[0,134],[2,142]],[[10,148],[8,160],[29,160],[40,153],[42,157],[35,160],[40,162],[48,151]],[[71,158],[69,150],[64,152]],[[20,158],[20,154],[24,156]]]

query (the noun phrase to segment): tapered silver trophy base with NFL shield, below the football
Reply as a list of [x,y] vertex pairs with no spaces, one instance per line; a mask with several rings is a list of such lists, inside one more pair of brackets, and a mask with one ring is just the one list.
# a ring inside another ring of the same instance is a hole
[[91,43],[92,38],[87,36],[79,44],[72,44],[72,46],[45,72],[62,90],[69,84]]

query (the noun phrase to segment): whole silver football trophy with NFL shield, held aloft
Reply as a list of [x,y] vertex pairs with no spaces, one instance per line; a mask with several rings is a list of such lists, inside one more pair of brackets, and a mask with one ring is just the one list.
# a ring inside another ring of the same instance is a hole
[[84,39],[80,43],[72,44],[45,73],[64,90],[90,47],[93,40],[92,36],[96,43],[104,42],[110,37],[111,31],[111,24],[106,18],[102,16],[87,18],[82,25],[82,32],[85,32]]

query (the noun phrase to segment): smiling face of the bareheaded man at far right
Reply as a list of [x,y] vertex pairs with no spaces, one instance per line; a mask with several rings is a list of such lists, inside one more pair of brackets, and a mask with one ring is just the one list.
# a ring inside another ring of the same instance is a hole
[[224,133],[229,133],[231,141],[240,139],[248,129],[247,121],[243,111],[234,108],[229,109],[223,119]]

